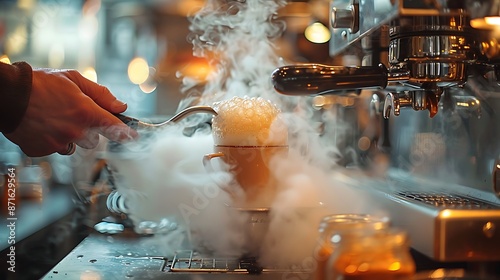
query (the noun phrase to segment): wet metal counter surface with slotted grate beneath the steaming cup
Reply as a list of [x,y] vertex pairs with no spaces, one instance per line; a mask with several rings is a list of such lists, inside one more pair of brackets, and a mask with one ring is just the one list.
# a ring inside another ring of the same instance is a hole
[[260,267],[250,258],[160,253],[153,236],[90,234],[41,279],[311,279],[298,269]]

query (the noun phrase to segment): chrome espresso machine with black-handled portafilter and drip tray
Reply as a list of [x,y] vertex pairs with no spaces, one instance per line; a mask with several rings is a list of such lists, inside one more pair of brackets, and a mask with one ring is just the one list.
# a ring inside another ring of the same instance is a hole
[[[330,1],[330,55],[354,53],[361,65],[272,74],[281,94],[354,93],[367,104],[358,110],[377,133],[352,128],[369,174],[355,184],[438,262],[500,261],[498,21],[497,0]],[[388,168],[374,175],[379,158]]]

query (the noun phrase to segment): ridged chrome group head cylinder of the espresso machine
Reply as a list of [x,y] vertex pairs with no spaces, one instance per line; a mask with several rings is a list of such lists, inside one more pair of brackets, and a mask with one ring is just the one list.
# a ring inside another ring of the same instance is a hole
[[[422,89],[410,93],[408,101],[414,110],[428,109],[434,117],[443,89],[466,82],[467,68],[476,61],[479,50],[471,33],[462,9],[443,15],[401,16],[391,22],[390,71],[408,71],[407,83]],[[391,100],[388,97],[386,103]]]

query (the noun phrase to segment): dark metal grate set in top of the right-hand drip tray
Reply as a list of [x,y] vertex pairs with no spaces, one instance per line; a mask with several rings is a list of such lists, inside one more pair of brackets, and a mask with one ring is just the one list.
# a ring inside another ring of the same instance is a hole
[[485,201],[440,192],[400,191],[397,196],[419,201],[438,208],[451,209],[499,209]]

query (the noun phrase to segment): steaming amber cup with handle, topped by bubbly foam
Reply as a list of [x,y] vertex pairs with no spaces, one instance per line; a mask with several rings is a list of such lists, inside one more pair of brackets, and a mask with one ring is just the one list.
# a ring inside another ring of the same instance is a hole
[[221,159],[219,170],[229,172],[233,180],[214,180],[238,206],[269,206],[276,191],[273,165],[288,155],[288,130],[279,109],[262,98],[240,97],[214,108],[214,152],[203,157],[205,169],[216,173],[212,162]]

